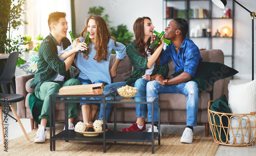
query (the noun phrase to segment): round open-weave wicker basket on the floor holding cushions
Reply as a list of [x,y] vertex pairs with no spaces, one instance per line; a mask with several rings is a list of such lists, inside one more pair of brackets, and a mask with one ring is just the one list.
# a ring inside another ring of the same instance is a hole
[[[256,140],[256,112],[250,114],[229,114],[219,113],[210,110],[210,104],[214,101],[208,102],[208,120],[212,137],[214,142],[227,145],[227,146],[248,146],[255,144]],[[216,117],[220,119],[220,125],[216,124]],[[224,126],[222,119],[228,119],[228,126]],[[231,127],[231,120],[238,120],[238,127]],[[253,121],[254,120],[254,121]],[[247,124],[245,123],[247,122]],[[241,124],[243,122],[243,124]],[[244,124],[245,123],[245,124]],[[221,139],[222,135],[225,134],[225,140]],[[229,137],[233,138],[233,142],[229,142]],[[240,137],[240,138],[239,138]],[[242,138],[241,138],[242,137]],[[246,140],[245,140],[246,138]]]

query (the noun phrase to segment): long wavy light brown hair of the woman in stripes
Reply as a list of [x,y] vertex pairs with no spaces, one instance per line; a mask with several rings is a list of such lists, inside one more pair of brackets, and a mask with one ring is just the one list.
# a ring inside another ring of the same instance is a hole
[[[87,26],[90,19],[94,19],[96,24],[96,35],[94,38],[94,49],[96,54],[93,59],[97,60],[97,62],[100,62],[102,59],[106,61],[106,56],[108,55],[108,42],[110,38],[112,38],[115,41],[115,46],[117,47],[116,39],[110,35],[109,28],[106,25],[105,20],[99,15],[91,15],[86,19],[86,27],[84,27],[81,32],[83,38],[86,37]],[[87,50],[87,53],[83,53],[83,58],[88,59],[88,55],[89,49]]]

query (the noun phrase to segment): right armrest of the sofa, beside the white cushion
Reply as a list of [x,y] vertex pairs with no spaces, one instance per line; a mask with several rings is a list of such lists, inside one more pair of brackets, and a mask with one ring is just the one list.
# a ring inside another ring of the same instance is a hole
[[220,79],[214,83],[212,86],[212,100],[217,100],[224,94],[226,95],[228,99],[228,83],[229,83],[229,77],[225,79]]

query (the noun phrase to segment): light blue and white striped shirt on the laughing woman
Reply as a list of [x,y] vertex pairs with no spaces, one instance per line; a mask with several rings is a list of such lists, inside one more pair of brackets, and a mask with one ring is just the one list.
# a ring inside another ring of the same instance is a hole
[[[83,40],[82,37],[79,39]],[[91,80],[93,83],[97,80],[102,80],[106,83],[111,83],[111,77],[109,72],[111,51],[114,49],[116,51],[116,58],[123,59],[126,55],[126,48],[122,43],[116,42],[118,47],[115,46],[115,41],[113,39],[109,40],[108,43],[108,55],[105,60],[101,60],[97,62],[97,60],[93,59],[96,51],[94,49],[95,44],[89,43],[89,57],[88,59],[83,58],[82,53],[78,52],[76,54],[76,66],[80,70],[79,77],[84,80]]]

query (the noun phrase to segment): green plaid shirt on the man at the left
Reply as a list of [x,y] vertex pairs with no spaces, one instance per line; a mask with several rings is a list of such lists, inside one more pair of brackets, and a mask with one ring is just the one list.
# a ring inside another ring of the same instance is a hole
[[[70,46],[70,41],[67,37],[63,38],[63,49]],[[62,76],[70,76],[66,71],[66,64],[58,57],[57,40],[50,33],[40,44],[38,50],[38,61],[35,78],[31,81],[30,87],[35,88],[35,91],[40,90],[40,85],[43,82],[50,82],[60,74]]]

